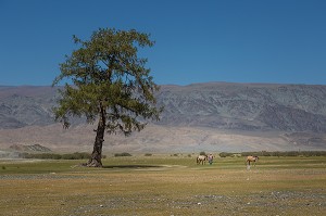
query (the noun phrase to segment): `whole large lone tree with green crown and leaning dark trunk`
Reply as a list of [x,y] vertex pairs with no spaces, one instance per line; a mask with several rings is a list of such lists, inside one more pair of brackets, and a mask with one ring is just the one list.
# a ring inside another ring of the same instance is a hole
[[105,131],[130,135],[147,119],[159,120],[154,92],[159,90],[138,49],[152,47],[150,35],[131,30],[100,28],[89,40],[73,36],[78,49],[60,64],[53,86],[66,80],[53,109],[55,119],[70,127],[73,116],[98,122],[91,157],[86,166],[101,167]]

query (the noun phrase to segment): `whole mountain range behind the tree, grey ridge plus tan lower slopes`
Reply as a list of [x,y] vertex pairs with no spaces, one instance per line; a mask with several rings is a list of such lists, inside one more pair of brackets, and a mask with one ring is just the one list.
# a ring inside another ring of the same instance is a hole
[[[63,130],[51,87],[0,87],[0,149],[42,144],[90,151],[92,125]],[[160,122],[128,138],[111,136],[109,151],[326,150],[326,86],[209,82],[162,86]]]

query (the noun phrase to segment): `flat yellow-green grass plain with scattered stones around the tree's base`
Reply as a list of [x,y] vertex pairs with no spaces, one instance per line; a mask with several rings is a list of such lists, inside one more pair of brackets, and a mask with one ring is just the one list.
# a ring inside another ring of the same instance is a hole
[[0,215],[326,215],[326,157],[0,161]]

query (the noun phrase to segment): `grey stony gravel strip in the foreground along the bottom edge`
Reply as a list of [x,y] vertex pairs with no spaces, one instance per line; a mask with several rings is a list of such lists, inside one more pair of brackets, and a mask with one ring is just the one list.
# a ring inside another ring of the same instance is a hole
[[[251,195],[198,194],[186,199],[96,196],[97,204],[66,213],[78,215],[317,215],[326,213],[326,194],[273,191]],[[164,208],[164,211],[162,211]]]

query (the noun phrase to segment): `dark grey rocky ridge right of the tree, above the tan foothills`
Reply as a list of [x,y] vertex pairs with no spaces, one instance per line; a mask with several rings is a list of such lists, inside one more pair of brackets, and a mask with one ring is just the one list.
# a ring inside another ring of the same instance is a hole
[[326,132],[326,86],[198,84],[163,86],[161,125]]

